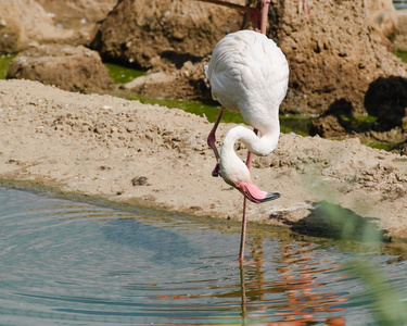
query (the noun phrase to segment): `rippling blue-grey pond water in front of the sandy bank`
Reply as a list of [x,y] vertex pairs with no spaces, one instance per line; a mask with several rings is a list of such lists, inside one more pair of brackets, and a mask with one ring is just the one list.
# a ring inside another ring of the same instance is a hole
[[1,325],[407,323],[407,264],[382,247],[251,225],[240,266],[232,222],[5,188],[0,208]]

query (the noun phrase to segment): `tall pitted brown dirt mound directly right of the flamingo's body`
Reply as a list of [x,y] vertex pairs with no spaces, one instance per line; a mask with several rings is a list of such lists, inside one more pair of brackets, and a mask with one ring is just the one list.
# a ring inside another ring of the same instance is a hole
[[279,0],[272,7],[269,35],[291,71],[283,111],[322,113],[344,99],[358,114],[379,76],[407,76],[406,65],[374,41],[364,2],[313,1],[309,20],[298,13],[296,1]]

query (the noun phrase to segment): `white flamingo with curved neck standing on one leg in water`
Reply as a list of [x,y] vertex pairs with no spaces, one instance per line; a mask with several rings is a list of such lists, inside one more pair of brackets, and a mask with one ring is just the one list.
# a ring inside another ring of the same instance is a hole
[[[242,262],[246,200],[262,203],[279,198],[280,193],[260,190],[252,183],[250,156],[244,164],[233,146],[241,140],[250,153],[263,156],[275,150],[280,135],[279,106],[288,89],[289,66],[285,55],[271,39],[253,30],[240,30],[228,34],[216,45],[205,73],[212,97],[221,104],[218,120],[208,136],[208,143],[217,159],[213,175],[220,175],[245,198],[239,255]],[[219,154],[215,146],[215,130],[225,108],[239,111],[254,130],[243,126],[230,129]]]

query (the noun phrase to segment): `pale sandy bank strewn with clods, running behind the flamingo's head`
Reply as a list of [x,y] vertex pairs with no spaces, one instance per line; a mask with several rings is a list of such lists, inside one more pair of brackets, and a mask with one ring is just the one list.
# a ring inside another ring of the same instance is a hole
[[[218,139],[231,127],[221,124]],[[241,195],[211,176],[209,129],[206,118],[180,110],[0,80],[2,179],[240,218]],[[238,152],[245,156],[242,146]],[[313,228],[321,223],[318,204],[327,200],[355,216],[378,217],[389,236],[407,238],[406,156],[367,148],[357,139],[281,135],[271,155],[254,160],[253,176],[260,188],[282,196],[250,204],[250,221]]]

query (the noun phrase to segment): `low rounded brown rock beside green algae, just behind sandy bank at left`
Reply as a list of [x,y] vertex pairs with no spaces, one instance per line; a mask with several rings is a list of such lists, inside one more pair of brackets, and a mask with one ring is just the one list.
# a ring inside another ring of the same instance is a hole
[[71,91],[103,92],[114,87],[98,52],[82,46],[39,46],[21,52],[7,78],[39,80]]

